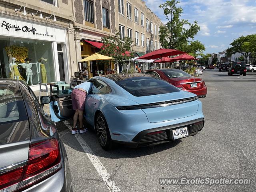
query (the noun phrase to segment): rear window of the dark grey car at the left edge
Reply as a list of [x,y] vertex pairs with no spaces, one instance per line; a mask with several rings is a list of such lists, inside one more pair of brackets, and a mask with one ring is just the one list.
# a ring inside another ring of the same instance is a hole
[[28,120],[20,90],[0,87],[0,124]]

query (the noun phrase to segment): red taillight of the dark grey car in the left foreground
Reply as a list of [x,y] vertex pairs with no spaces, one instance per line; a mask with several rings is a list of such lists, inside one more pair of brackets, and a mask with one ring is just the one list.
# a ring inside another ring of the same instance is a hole
[[0,175],[0,190],[12,192],[52,175],[61,168],[56,138],[30,145],[28,164]]

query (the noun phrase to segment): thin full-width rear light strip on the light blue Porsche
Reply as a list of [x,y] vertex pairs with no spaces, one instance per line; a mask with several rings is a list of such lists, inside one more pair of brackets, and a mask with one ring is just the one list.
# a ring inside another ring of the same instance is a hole
[[174,101],[166,101],[166,102],[159,102],[159,103],[152,103],[152,104],[143,104],[143,105],[132,105],[132,106],[120,106],[116,107],[118,110],[136,110],[136,109],[148,109],[148,108],[156,108],[156,107],[166,107],[171,105],[177,105],[187,102],[195,101],[197,98],[188,98],[182,100],[174,100]]

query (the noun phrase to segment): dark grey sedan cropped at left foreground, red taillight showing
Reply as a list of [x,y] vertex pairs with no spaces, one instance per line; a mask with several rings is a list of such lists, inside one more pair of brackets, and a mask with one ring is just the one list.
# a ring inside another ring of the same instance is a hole
[[0,191],[72,192],[54,122],[26,82],[14,79],[0,80]]

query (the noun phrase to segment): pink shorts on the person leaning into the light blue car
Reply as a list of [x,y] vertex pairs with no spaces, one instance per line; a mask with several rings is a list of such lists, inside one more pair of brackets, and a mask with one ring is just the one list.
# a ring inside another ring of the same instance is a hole
[[86,92],[79,89],[73,89],[71,98],[72,98],[72,105],[74,110],[84,110]]

